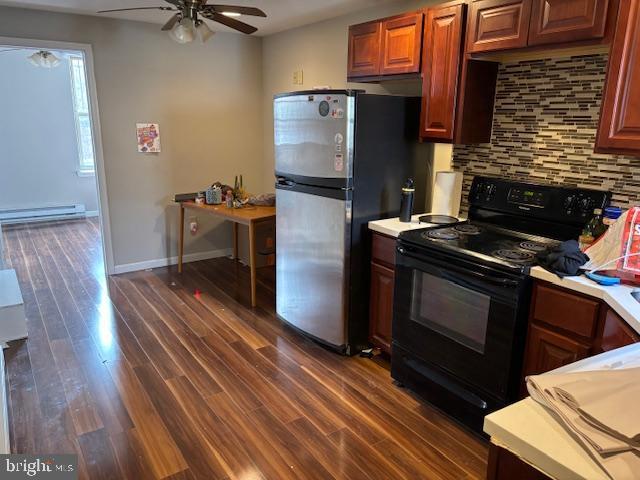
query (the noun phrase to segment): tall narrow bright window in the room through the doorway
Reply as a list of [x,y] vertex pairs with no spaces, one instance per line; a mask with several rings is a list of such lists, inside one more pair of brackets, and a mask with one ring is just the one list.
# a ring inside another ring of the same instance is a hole
[[95,152],[93,149],[93,132],[91,129],[91,113],[89,111],[84,58],[71,55],[69,57],[69,65],[71,67],[71,92],[76,119],[76,135],[78,137],[78,175],[94,175]]

